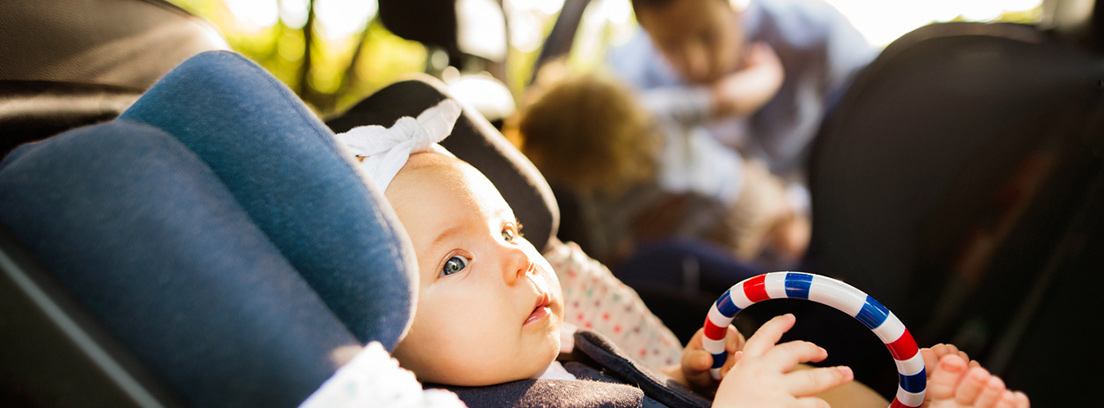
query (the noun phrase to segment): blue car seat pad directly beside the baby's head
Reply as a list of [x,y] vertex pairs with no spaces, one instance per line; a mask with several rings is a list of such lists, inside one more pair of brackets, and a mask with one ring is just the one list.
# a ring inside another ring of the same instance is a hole
[[413,315],[413,248],[382,194],[290,89],[237,54],[206,52],[120,119],[195,152],[353,335],[394,347]]

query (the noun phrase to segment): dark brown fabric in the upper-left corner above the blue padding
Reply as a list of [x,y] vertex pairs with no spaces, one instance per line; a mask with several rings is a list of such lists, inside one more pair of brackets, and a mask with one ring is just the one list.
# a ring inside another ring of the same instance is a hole
[[0,155],[110,120],[177,64],[225,49],[162,0],[0,2]]

